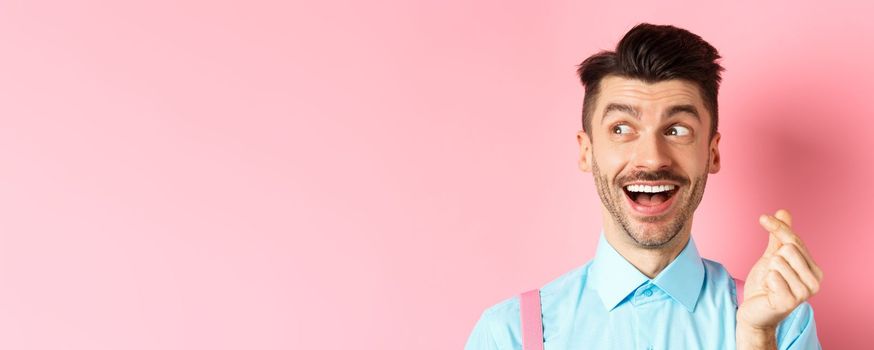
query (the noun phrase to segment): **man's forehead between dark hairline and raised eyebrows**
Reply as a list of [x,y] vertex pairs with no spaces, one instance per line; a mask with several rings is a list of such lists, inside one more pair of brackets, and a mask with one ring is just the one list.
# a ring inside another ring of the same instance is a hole
[[598,109],[612,102],[657,110],[687,104],[698,107],[701,113],[706,113],[698,86],[680,79],[647,83],[619,76],[604,77],[599,85]]

